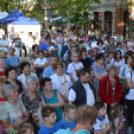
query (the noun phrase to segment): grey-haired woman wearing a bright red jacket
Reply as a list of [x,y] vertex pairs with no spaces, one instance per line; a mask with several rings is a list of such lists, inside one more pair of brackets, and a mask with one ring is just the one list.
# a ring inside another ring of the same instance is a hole
[[116,66],[108,64],[106,68],[108,75],[104,77],[100,84],[100,96],[103,103],[107,103],[108,111],[120,102],[122,97],[122,85],[115,76]]

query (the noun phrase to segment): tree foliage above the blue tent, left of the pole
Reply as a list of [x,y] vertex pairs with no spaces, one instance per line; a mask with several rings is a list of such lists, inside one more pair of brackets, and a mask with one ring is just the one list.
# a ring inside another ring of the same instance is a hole
[[37,18],[43,23],[44,4],[44,0],[0,0],[0,10],[10,13],[13,10],[20,9],[27,17]]

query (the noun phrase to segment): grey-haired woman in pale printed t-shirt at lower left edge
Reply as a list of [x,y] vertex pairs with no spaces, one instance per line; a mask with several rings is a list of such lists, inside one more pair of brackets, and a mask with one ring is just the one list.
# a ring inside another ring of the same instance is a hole
[[6,101],[5,105],[0,106],[0,122],[5,133],[18,130],[20,124],[29,120],[29,114],[18,98],[18,89],[16,84],[7,84],[3,88]]

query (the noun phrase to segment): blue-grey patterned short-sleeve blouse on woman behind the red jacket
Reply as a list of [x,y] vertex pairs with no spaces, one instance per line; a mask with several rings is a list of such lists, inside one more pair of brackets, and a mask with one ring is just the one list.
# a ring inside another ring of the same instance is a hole
[[[96,74],[100,74],[100,73],[107,74],[107,72],[106,72],[106,66],[104,65],[102,68],[100,68],[98,65],[95,64],[93,66],[93,74],[96,75]],[[96,90],[99,90],[99,88],[100,88],[100,82],[101,81],[95,79]]]

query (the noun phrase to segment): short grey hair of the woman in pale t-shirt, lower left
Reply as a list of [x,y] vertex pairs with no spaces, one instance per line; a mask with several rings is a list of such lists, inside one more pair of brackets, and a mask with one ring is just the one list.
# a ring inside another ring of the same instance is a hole
[[5,100],[7,100],[7,97],[10,96],[11,94],[11,91],[14,90],[14,89],[19,89],[19,86],[16,85],[16,84],[6,84],[4,87],[3,87],[3,90],[2,90],[2,95],[4,97]]

